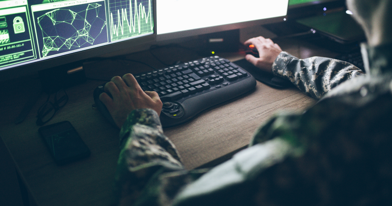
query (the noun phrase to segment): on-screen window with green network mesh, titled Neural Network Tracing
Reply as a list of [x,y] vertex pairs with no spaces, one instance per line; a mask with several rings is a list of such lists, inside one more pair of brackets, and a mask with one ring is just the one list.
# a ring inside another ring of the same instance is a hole
[[65,1],[32,6],[40,58],[109,41],[104,1]]

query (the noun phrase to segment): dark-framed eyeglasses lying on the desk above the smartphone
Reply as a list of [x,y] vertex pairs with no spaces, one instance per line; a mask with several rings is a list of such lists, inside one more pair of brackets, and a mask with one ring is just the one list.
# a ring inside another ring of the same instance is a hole
[[42,126],[49,122],[54,114],[68,102],[68,95],[63,89],[56,92],[54,95],[54,102],[49,101],[50,96],[51,94],[48,94],[46,102],[38,109],[36,121],[38,126]]

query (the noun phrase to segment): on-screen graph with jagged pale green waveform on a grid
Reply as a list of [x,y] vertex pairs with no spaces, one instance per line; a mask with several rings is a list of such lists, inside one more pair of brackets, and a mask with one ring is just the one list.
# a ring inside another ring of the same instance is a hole
[[111,41],[154,32],[152,0],[109,0],[108,5]]

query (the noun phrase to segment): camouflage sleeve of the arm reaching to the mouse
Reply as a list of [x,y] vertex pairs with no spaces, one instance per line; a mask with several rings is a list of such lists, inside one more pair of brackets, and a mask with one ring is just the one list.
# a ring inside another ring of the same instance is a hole
[[327,57],[298,59],[287,52],[281,52],[276,57],[272,72],[289,79],[301,91],[316,99],[320,99],[341,82],[364,74],[345,61]]

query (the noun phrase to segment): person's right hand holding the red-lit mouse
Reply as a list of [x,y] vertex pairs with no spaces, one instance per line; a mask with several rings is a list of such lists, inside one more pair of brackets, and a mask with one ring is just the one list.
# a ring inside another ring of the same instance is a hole
[[272,63],[282,52],[282,49],[271,39],[265,39],[262,36],[248,39],[244,42],[244,45],[247,47],[251,44],[257,48],[260,57],[256,58],[251,54],[247,54],[245,59],[261,70],[272,73]]

